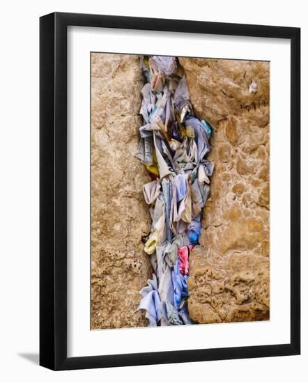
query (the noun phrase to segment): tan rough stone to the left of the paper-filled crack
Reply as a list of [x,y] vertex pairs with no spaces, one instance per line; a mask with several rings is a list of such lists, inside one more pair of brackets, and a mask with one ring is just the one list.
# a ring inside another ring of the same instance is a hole
[[91,329],[146,326],[136,309],[151,275],[150,178],[134,157],[144,80],[137,56],[92,54],[91,65]]

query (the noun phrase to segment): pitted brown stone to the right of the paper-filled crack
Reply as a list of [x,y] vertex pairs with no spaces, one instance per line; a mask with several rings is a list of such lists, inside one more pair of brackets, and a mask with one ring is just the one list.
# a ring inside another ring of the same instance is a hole
[[[201,247],[190,256],[198,323],[269,318],[269,71],[257,61],[180,58],[215,162]],[[249,93],[252,82],[256,93]]]

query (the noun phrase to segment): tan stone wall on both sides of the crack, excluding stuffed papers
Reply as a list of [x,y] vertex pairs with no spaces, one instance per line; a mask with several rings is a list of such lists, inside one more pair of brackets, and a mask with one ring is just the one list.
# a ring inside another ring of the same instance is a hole
[[[215,162],[189,311],[200,323],[269,317],[269,63],[180,58],[194,110],[213,126]],[[146,326],[151,219],[134,157],[144,85],[137,56],[91,55],[91,328]],[[256,84],[256,92],[249,86]]]

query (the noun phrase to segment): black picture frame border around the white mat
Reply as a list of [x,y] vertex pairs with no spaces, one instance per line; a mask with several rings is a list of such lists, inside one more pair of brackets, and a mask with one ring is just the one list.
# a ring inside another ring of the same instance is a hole
[[[251,347],[67,357],[67,27],[291,40],[291,342]],[[52,13],[40,17],[40,365],[102,368],[300,354],[300,29]]]

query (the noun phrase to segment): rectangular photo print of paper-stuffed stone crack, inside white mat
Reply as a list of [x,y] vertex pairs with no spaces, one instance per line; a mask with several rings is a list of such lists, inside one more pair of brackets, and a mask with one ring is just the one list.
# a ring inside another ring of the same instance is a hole
[[91,329],[270,318],[270,63],[91,52]]

